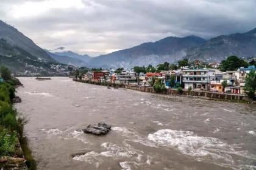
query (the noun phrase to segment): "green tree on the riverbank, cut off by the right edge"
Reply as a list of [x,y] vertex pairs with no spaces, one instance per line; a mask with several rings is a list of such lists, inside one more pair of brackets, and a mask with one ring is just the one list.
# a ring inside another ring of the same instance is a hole
[[246,75],[246,80],[244,84],[244,91],[249,98],[256,100],[255,92],[256,92],[256,73],[255,70],[251,70]]

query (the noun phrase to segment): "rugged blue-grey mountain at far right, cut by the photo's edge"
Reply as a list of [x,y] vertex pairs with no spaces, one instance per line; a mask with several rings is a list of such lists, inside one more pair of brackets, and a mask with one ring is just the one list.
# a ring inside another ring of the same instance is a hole
[[234,33],[212,38],[196,48],[187,50],[189,60],[221,61],[227,56],[256,55],[256,28],[246,33]]

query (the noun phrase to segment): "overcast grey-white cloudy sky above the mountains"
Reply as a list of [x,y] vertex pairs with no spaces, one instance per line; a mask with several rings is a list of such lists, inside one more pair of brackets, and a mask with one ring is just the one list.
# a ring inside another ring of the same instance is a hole
[[0,19],[44,49],[99,55],[166,36],[246,32],[255,0],[0,0]]

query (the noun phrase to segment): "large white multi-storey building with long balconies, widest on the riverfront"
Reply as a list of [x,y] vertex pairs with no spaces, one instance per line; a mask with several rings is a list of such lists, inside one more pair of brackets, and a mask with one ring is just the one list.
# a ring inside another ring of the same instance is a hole
[[210,82],[215,80],[215,69],[182,70],[182,77],[185,89],[210,90]]

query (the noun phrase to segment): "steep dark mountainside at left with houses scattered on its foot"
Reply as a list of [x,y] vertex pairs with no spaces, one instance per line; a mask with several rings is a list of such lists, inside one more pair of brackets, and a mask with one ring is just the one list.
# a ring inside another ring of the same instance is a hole
[[73,66],[57,63],[43,49],[0,21],[0,65],[5,65],[16,76],[68,75]]

